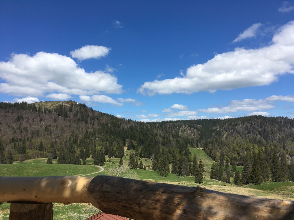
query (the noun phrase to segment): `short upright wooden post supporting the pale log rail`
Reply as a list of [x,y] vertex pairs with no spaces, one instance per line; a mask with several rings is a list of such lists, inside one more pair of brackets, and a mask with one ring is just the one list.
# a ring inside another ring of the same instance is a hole
[[52,203],[17,203],[10,204],[9,220],[53,220]]

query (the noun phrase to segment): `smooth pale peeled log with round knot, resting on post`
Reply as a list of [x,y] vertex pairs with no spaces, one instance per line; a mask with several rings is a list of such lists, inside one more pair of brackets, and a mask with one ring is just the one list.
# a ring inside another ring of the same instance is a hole
[[0,177],[0,203],[11,201],[89,203],[93,177]]

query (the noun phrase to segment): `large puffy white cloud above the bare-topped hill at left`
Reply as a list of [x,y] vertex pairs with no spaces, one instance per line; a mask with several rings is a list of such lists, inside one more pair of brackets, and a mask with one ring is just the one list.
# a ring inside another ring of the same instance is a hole
[[103,71],[86,72],[70,57],[38,52],[12,54],[0,62],[0,93],[43,96],[44,93],[88,95],[100,92],[121,94],[117,78]]

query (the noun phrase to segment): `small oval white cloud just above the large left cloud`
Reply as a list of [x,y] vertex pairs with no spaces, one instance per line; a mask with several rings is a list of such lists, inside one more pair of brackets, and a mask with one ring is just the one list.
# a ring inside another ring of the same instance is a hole
[[91,58],[99,59],[110,53],[111,48],[96,45],[86,45],[79,49],[71,51],[69,54],[78,60],[86,60]]

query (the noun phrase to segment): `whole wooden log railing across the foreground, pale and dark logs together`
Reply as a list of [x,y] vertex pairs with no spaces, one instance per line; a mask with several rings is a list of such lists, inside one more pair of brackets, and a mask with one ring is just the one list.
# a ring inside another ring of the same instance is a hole
[[[21,204],[36,202],[40,211],[48,216],[53,213],[51,202],[63,202],[91,203],[106,213],[136,220],[294,219],[293,201],[103,175],[94,178],[0,177],[0,202],[13,202],[12,208],[17,206],[16,211],[27,213],[22,219],[39,219],[34,218],[38,209],[32,204],[29,204],[32,208],[20,211],[24,208]],[[11,220],[19,219],[13,215],[17,215],[15,211],[10,212]]]

